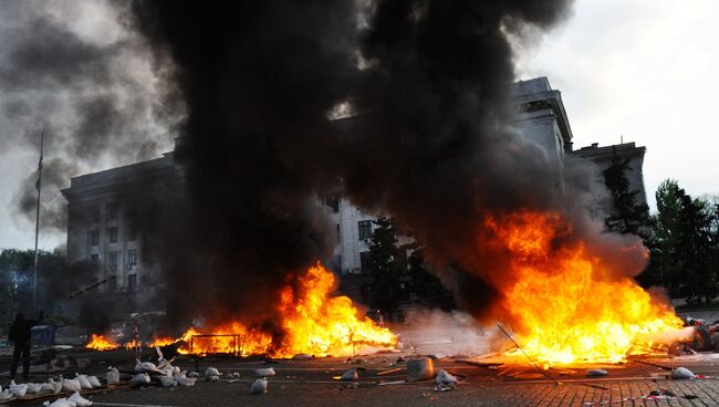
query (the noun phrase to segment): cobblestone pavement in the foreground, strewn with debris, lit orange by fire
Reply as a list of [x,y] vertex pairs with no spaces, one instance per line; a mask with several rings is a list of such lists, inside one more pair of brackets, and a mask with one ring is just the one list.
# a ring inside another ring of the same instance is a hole
[[[588,379],[587,366],[548,371],[561,384],[538,374],[531,366],[504,365],[496,369],[454,362],[437,362],[438,368],[461,375],[457,389],[438,393],[433,382],[378,386],[379,382],[402,380],[405,372],[377,375],[392,368],[395,355],[372,356],[361,364],[344,358],[286,361],[271,365],[275,377],[269,378],[269,392],[250,395],[249,385],[257,367],[263,362],[204,359],[197,369],[213,366],[225,373],[225,379],[208,383],[198,379],[189,388],[146,388],[92,394],[95,406],[719,406],[719,366],[710,356],[704,361],[655,359],[654,363],[686,366],[706,378],[669,380],[667,371],[638,363],[602,366],[606,378]],[[113,364],[117,365],[115,362]],[[189,359],[179,361],[183,368],[195,369]],[[129,368],[129,365],[124,366]],[[361,367],[356,385],[333,379],[351,367]],[[592,366],[597,367],[597,366]],[[104,366],[96,366],[101,374]],[[240,373],[240,380],[228,383],[230,373]],[[715,378],[717,377],[717,378]],[[3,380],[4,382],[4,380]],[[3,383],[4,384],[4,383]],[[670,399],[644,399],[655,389],[669,389]],[[696,398],[686,398],[696,397]],[[30,404],[23,404],[30,405]],[[38,405],[38,404],[35,404]]]

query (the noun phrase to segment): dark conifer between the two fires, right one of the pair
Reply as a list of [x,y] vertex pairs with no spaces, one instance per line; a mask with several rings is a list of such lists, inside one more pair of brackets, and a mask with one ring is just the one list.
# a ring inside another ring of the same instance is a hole
[[451,311],[457,309],[455,296],[429,270],[421,249],[411,252],[408,259],[410,290],[417,294],[417,304],[427,309]]

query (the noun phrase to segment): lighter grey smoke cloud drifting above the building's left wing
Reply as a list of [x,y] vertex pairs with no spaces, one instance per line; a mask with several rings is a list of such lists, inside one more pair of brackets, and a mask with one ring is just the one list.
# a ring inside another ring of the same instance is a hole
[[70,177],[170,148],[181,106],[156,105],[163,72],[125,27],[127,4],[0,1],[0,155],[28,164],[13,192],[18,211],[34,222],[32,168],[45,133],[41,222],[45,233],[65,232],[60,189]]

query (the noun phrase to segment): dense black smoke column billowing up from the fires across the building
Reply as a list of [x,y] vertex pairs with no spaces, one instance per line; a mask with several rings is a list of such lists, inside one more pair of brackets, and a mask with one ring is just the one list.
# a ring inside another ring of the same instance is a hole
[[[460,296],[490,295],[483,213],[567,206],[559,164],[507,127],[508,32],[549,28],[570,3],[134,2],[187,105],[174,317],[271,324],[286,276],[330,253],[315,202],[337,191],[411,230]],[[329,121],[343,104],[356,115]]]

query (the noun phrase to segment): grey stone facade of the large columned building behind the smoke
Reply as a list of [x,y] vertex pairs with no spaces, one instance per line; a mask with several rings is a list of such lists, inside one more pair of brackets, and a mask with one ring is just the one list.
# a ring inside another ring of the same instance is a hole
[[[546,77],[518,82],[512,96],[518,113],[512,126],[519,134],[544,147],[558,163],[570,154],[592,160],[602,169],[611,161],[612,152],[618,152],[622,157],[631,159],[632,188],[640,189],[646,202],[642,175],[644,147],[629,143],[609,147],[592,145],[573,150],[573,134],[561,92],[553,90]],[[601,176],[601,171],[597,174]],[[67,257],[72,261],[90,261],[96,268],[98,281],[116,275],[116,280],[100,288],[101,292],[142,294],[143,281],[158,272],[159,265],[144,255],[143,237],[128,222],[127,210],[133,206],[134,195],[148,194],[149,190],[161,196],[171,189],[179,190],[184,179],[171,153],[161,158],[71,179],[70,188],[63,190],[70,211]],[[595,192],[600,196],[601,187]],[[367,303],[373,280],[369,239],[376,215],[367,213],[341,197],[324,197],[321,201],[335,225],[336,233],[336,247],[332,258],[325,261],[342,276],[343,292],[355,301]],[[597,219],[606,213],[604,205],[592,208]],[[410,238],[399,237],[399,244],[409,243]]]

